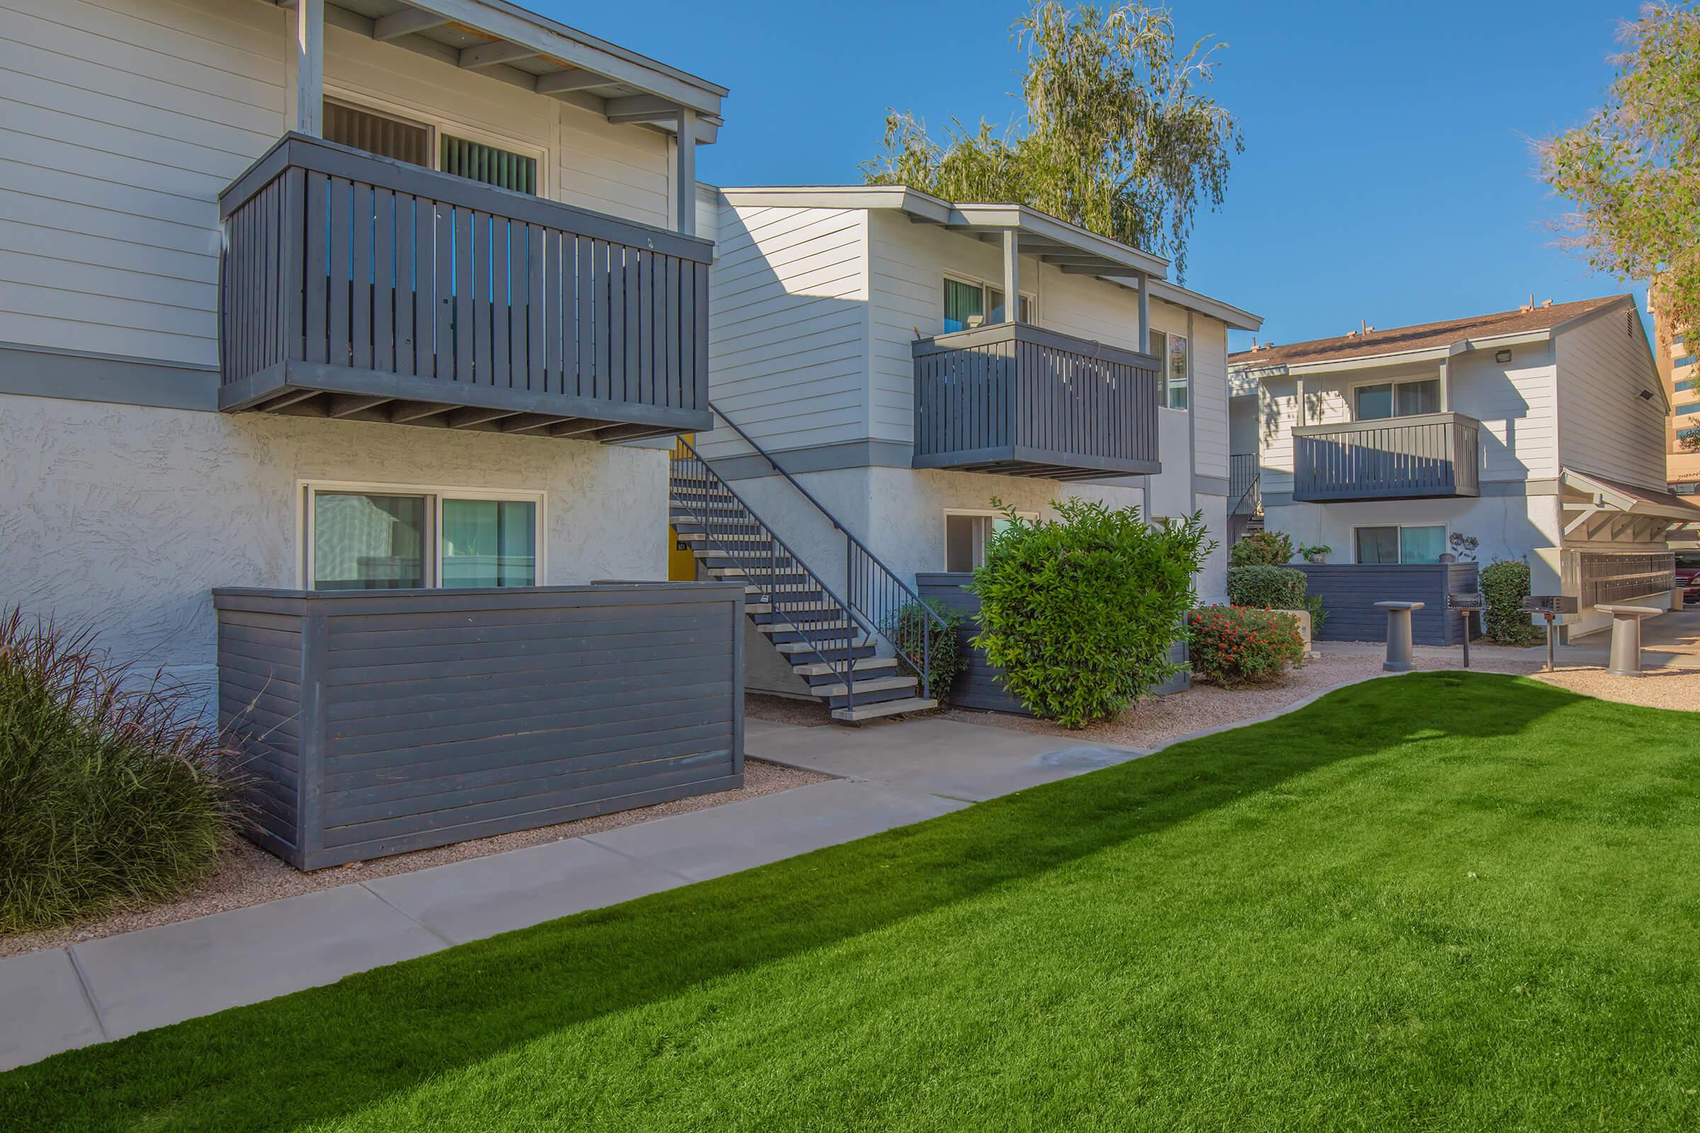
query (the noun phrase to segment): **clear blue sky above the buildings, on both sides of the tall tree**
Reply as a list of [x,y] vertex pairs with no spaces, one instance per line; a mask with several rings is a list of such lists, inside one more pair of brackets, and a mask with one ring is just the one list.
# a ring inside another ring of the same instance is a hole
[[[1020,107],[1013,2],[733,0],[712,19],[682,0],[524,2],[729,87],[721,139],[699,156],[721,185],[855,182],[887,107],[935,127],[1006,122]],[[1197,221],[1187,284],[1261,314],[1265,341],[1625,290],[1552,246],[1544,221],[1562,204],[1528,141],[1600,104],[1618,20],[1635,8],[1171,3],[1178,41],[1226,44],[1214,93],[1246,138],[1221,212]]]

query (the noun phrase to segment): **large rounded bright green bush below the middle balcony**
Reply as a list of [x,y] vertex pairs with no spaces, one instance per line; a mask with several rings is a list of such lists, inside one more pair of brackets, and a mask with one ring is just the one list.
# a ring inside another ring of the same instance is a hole
[[1006,511],[974,571],[974,644],[1030,712],[1078,729],[1175,674],[1168,651],[1195,601],[1192,576],[1216,544],[1200,513],[1153,527],[1139,508],[1088,499],[1056,508],[1054,521]]

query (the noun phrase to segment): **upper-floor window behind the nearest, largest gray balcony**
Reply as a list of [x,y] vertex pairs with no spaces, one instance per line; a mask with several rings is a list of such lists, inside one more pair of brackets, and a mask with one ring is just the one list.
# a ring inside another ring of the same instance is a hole
[[542,151],[525,153],[476,138],[452,122],[391,114],[347,99],[325,99],[325,139],[410,165],[442,170],[496,189],[539,194]]

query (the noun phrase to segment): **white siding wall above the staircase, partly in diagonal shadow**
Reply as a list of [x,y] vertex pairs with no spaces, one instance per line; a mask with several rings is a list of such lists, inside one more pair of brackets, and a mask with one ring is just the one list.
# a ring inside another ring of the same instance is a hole
[[[709,392],[768,450],[867,435],[867,219],[724,204],[709,284]],[[722,430],[704,455],[748,452]]]

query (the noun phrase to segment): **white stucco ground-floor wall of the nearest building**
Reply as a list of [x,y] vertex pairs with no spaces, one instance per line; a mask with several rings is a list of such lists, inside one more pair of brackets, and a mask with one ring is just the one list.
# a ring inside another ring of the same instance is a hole
[[214,586],[299,584],[298,482],[546,493],[549,584],[666,578],[666,454],[0,394],[0,605],[209,685]]

